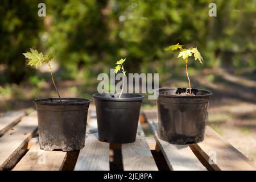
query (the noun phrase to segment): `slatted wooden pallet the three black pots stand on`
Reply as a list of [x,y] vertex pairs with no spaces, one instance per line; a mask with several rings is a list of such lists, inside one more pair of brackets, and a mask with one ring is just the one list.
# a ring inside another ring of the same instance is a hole
[[113,163],[110,154],[119,150],[119,165],[125,171],[159,170],[160,159],[154,151],[161,153],[162,163],[170,170],[255,170],[249,159],[209,126],[203,142],[175,145],[164,142],[156,134],[155,110],[144,111],[142,116],[146,121],[143,127],[150,126],[154,137],[146,137],[139,123],[134,143],[109,144],[97,139],[96,111],[90,109],[85,147],[63,152],[40,150],[36,111],[29,115],[24,111],[6,113],[0,116],[0,169],[109,171]]

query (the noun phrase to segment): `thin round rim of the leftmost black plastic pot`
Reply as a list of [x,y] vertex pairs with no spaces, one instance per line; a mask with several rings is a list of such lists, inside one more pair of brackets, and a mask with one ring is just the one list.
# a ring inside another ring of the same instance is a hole
[[56,101],[56,100],[60,100],[60,98],[57,97],[48,97],[48,98],[37,98],[35,99],[33,102],[36,105],[83,105],[83,104],[89,104],[90,102],[92,102],[92,100],[90,100],[89,98],[73,98],[73,97],[63,97],[61,98],[61,101],[80,101],[80,102],[45,102],[45,101]]

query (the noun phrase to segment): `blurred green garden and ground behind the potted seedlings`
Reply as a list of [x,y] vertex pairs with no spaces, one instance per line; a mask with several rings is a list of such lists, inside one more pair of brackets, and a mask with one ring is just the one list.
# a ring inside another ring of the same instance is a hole
[[[40,2],[46,3],[46,17],[38,16]],[[212,2],[216,17],[208,14]],[[159,73],[160,87],[186,87],[184,61],[163,50],[180,43],[197,47],[204,57],[203,66],[189,62],[189,75],[192,87],[213,92],[208,125],[235,146],[243,138],[236,147],[254,160],[255,33],[255,0],[2,0],[0,113],[34,107],[34,98],[57,97],[47,67],[26,65],[22,53],[30,47],[46,54],[55,50],[62,97],[90,98],[98,73],[109,73],[121,57],[129,73]],[[145,99],[147,107],[155,101]]]

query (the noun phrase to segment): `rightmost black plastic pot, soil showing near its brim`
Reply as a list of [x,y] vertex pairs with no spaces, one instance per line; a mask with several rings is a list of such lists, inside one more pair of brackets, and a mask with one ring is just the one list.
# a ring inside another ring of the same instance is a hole
[[208,90],[192,89],[195,96],[173,93],[189,92],[186,88],[156,90],[158,99],[158,136],[172,144],[197,143],[204,140],[209,97]]

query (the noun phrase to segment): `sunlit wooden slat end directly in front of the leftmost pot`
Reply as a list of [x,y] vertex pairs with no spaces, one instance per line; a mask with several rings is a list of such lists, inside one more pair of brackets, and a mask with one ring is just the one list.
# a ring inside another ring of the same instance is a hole
[[14,171],[58,171],[67,156],[63,151],[40,150],[38,141],[13,168]]

